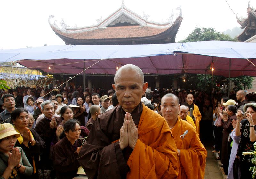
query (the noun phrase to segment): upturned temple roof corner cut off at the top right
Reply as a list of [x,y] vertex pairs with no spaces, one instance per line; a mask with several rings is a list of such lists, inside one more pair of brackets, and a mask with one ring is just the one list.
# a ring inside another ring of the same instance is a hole
[[236,18],[237,22],[241,25],[241,28],[244,29],[244,31],[237,37],[237,39],[242,42],[253,37],[256,31],[256,10],[254,10],[249,3],[247,8],[247,14],[247,18]]

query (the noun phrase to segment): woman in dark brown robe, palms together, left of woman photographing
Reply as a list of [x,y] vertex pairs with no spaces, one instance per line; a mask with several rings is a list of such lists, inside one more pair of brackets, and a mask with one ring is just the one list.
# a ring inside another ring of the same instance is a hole
[[228,139],[229,134],[233,130],[232,121],[236,120],[236,106],[229,105],[223,115],[223,133],[222,133],[222,147],[221,147],[221,163],[225,174],[228,174],[228,164],[231,152],[231,141]]

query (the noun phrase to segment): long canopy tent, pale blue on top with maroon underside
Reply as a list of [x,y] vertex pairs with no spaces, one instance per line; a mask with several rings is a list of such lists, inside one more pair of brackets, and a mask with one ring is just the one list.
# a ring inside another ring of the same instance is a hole
[[[16,61],[50,74],[116,73],[125,64],[145,74],[211,74],[256,76],[256,43],[204,41],[153,45],[59,45],[0,50],[0,62]],[[95,64],[97,61],[99,63]]]

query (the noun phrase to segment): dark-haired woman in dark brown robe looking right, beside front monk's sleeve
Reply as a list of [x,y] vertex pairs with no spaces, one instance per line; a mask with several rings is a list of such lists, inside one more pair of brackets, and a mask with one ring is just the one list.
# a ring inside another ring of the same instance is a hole
[[80,164],[76,158],[82,148],[82,140],[77,140],[80,133],[79,121],[71,119],[64,124],[63,138],[54,145],[53,150],[53,167],[57,179],[72,179],[77,175]]

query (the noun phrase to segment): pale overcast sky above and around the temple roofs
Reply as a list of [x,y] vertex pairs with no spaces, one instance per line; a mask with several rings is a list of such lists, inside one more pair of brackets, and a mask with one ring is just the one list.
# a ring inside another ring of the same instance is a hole
[[[227,0],[239,17],[247,17],[247,0]],[[196,26],[213,27],[223,32],[233,27],[240,27],[235,14],[226,0],[124,0],[125,6],[148,20],[166,22],[172,9],[178,14],[182,9],[182,23],[176,42],[186,38]],[[60,23],[77,27],[97,24],[96,19],[105,19],[122,4],[121,0],[44,0],[44,1],[0,1],[0,49],[38,47],[47,45],[64,45],[48,23],[49,15]],[[256,1],[251,1],[256,7]],[[59,25],[59,27],[61,27]]]

